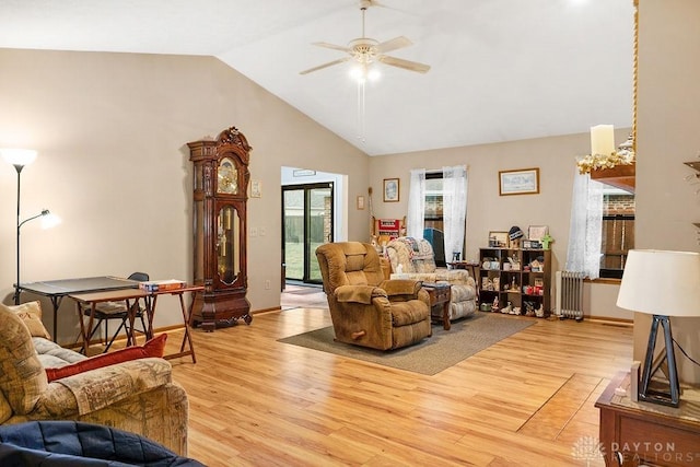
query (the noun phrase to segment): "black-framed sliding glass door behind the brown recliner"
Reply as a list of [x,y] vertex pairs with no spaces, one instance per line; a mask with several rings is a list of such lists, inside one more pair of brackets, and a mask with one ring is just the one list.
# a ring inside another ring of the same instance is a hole
[[282,187],[284,279],[320,284],[316,247],[334,238],[334,183]]

